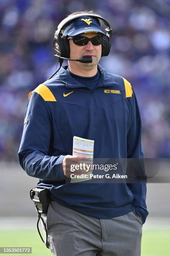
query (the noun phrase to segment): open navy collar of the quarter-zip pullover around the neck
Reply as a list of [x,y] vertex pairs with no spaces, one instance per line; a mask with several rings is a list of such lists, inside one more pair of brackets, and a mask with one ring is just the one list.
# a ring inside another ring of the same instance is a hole
[[[85,87],[82,83],[78,83],[68,72],[68,66],[62,66],[58,72],[58,76],[60,77],[61,81],[65,83],[66,87],[68,88],[78,88],[78,87]],[[101,73],[100,81],[97,84],[97,87],[100,86],[110,86],[110,85],[117,85],[117,82],[108,74],[103,67],[99,64],[97,65],[97,69]]]

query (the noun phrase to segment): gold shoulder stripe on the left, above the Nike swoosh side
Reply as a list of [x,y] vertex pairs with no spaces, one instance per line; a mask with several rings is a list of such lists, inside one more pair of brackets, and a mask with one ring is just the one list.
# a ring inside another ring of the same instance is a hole
[[[50,89],[48,89],[48,87],[44,84],[38,85],[38,87],[35,88],[35,90],[33,90],[32,92],[37,92],[38,94],[40,94],[45,101],[57,101],[55,100],[55,97],[50,91]],[[29,93],[28,99],[32,95],[32,92]]]

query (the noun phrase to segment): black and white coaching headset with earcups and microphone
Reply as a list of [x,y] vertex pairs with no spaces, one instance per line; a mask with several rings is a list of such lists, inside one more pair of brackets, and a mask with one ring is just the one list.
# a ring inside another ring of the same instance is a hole
[[[79,17],[83,17],[83,16],[98,18],[99,20],[102,20],[102,22],[105,24],[107,28],[105,28],[105,36],[102,36],[103,40],[102,40],[101,57],[107,56],[110,53],[111,41],[112,41],[112,29],[110,28],[110,24],[107,22],[107,20],[105,20],[104,18],[102,18],[100,15],[97,15],[97,14],[90,14],[90,13],[74,14],[62,20],[58,25],[57,30],[55,31],[55,34],[54,34],[54,41],[53,41],[53,49],[55,53],[54,57],[59,61],[60,68],[62,66],[63,59],[80,61],[82,63],[92,62],[92,57],[82,57],[81,59],[69,59],[70,44],[67,39],[67,36],[63,35],[65,28],[72,22],[72,20]],[[54,74],[52,74],[52,76],[49,79],[51,79],[59,71],[59,69]]]

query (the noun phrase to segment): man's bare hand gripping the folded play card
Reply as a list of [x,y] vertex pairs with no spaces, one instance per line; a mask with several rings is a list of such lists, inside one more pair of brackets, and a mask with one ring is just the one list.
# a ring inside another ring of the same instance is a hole
[[[71,155],[65,156],[62,160],[62,170],[64,175],[67,178],[70,178],[70,174],[71,174],[70,165],[76,165],[76,164],[80,165],[80,162],[82,162],[82,160],[84,160],[83,162],[86,163],[89,161],[89,157],[88,156],[71,156]],[[67,164],[66,164],[66,161],[67,161]],[[74,174],[84,174],[84,173],[87,173],[87,169],[78,169],[78,170],[75,169],[74,171]]]

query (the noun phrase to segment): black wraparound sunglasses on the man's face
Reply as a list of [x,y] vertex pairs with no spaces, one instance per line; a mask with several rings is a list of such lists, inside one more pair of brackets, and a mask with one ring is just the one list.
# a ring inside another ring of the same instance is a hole
[[72,39],[73,43],[77,45],[86,45],[88,44],[89,41],[91,41],[93,45],[102,44],[102,36],[95,36],[92,38],[87,38],[85,36],[75,36],[75,37],[68,37],[67,39]]

